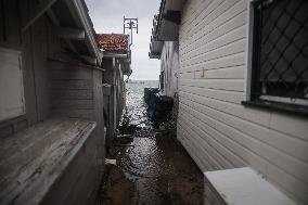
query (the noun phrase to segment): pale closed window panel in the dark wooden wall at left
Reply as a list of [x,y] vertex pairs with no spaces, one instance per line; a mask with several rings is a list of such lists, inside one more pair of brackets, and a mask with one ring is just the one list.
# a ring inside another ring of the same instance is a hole
[[25,114],[21,52],[0,48],[0,121]]

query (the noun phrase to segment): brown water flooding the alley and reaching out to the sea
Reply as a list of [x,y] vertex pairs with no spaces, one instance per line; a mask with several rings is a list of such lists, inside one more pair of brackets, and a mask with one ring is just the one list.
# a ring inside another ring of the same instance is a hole
[[138,125],[133,142],[115,146],[116,166],[108,165],[99,204],[203,204],[203,175],[177,141],[175,131],[155,130],[146,117],[144,87],[127,85],[127,111]]

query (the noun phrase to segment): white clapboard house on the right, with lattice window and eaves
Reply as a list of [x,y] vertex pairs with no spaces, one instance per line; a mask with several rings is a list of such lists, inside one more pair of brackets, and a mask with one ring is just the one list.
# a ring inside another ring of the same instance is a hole
[[177,136],[198,167],[252,167],[297,204],[308,203],[307,8],[163,0],[150,47],[165,74],[179,55]]

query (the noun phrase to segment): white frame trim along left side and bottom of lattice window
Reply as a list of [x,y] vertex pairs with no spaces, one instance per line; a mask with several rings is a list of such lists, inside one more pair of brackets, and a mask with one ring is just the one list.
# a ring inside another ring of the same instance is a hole
[[[254,22],[255,22],[255,10],[254,3],[257,0],[248,0],[247,1],[247,43],[246,43],[246,63],[247,68],[245,71],[245,101],[252,101],[252,75],[253,75],[253,56],[254,56]],[[272,0],[269,0],[272,1]],[[273,95],[260,95],[260,100],[267,100],[271,102],[286,103],[293,105],[304,105],[308,106],[308,100],[303,99],[292,99],[292,98],[283,98],[283,97],[273,97]]]

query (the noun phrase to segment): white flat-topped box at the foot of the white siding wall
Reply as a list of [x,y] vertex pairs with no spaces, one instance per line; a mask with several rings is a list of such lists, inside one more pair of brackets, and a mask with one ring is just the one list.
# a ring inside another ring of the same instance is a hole
[[204,175],[205,205],[295,205],[249,167]]

